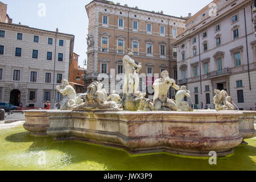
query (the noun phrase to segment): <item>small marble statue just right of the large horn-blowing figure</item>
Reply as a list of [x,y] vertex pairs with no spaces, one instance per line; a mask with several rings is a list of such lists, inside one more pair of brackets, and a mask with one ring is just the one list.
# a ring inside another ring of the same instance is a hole
[[186,86],[181,86],[180,90],[177,91],[175,101],[178,110],[188,111],[191,110],[188,102],[184,101],[184,97],[191,97],[190,91],[187,90]]

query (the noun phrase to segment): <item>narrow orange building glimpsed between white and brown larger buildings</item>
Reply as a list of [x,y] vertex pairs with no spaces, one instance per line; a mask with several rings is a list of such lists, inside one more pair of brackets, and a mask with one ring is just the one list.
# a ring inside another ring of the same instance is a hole
[[76,93],[84,93],[85,69],[78,67],[79,55],[73,52],[71,63],[69,64],[69,84],[73,86]]

